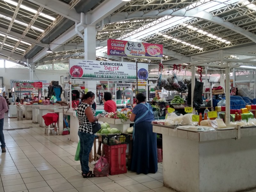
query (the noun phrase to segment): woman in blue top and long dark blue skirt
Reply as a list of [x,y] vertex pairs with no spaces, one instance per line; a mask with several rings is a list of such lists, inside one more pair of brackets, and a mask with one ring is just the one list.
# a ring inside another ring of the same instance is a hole
[[142,93],[136,95],[137,105],[133,108],[130,120],[134,121],[131,171],[138,174],[157,172],[156,133],[151,124],[154,115],[151,105],[145,102]]

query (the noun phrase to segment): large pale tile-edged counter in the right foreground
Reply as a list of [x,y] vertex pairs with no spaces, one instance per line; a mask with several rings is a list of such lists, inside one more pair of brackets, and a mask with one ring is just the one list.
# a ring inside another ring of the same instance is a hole
[[[256,127],[163,134],[164,186],[180,192],[235,192],[256,187]],[[240,138],[240,139],[238,139]]]

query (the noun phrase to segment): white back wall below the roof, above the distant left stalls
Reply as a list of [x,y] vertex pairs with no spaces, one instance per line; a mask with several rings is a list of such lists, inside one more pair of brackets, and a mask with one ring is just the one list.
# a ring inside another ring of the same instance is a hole
[[[60,76],[66,76],[68,71],[61,70],[35,70],[33,79],[31,80],[47,80],[47,81],[59,81]],[[10,80],[30,80],[29,79],[29,69],[20,69],[20,68],[0,68],[0,76],[4,78],[4,86],[10,86]]]

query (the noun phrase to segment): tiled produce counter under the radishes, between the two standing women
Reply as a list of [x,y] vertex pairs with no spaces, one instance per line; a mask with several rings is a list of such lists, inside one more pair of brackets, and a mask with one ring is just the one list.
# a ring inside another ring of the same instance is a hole
[[99,117],[99,121],[108,123],[111,128],[116,128],[120,130],[122,133],[126,133],[127,129],[130,127],[130,124],[134,123],[129,119],[125,121],[123,119],[114,119],[108,117]]

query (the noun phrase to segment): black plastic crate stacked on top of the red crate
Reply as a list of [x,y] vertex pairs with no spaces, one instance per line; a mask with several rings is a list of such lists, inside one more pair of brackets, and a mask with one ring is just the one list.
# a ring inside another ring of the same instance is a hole
[[[120,137],[123,135],[124,137]],[[130,143],[131,136],[127,134],[120,134],[115,136],[104,136],[102,135],[102,143],[105,145],[119,145],[119,144],[126,144]]]

